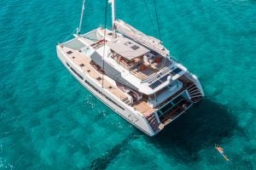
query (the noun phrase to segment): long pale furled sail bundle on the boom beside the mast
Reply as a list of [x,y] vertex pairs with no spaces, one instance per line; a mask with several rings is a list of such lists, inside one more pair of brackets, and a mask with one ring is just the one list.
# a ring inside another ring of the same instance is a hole
[[169,55],[169,51],[161,44],[159,39],[145,35],[143,32],[138,31],[134,27],[128,25],[123,20],[115,20],[114,26],[117,31],[125,34],[127,37],[131,37],[133,40],[142,43],[148,48],[152,48],[157,53],[166,57]]

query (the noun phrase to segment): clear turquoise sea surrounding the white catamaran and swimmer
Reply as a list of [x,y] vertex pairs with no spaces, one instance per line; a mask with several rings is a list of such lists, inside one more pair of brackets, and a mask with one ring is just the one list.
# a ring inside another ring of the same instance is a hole
[[[104,23],[87,1],[82,31]],[[117,15],[156,34],[154,3],[117,1]],[[55,53],[79,24],[81,1],[2,0],[0,169],[256,169],[256,2],[156,1],[167,48],[206,99],[149,138],[103,105]],[[110,26],[108,7],[108,26]],[[214,144],[221,144],[230,162]]]

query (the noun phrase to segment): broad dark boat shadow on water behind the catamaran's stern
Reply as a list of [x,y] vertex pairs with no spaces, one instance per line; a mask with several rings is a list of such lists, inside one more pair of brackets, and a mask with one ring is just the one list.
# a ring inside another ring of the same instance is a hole
[[154,138],[147,139],[165,152],[166,156],[191,162],[198,161],[200,150],[221,144],[235,130],[243,133],[229,108],[210,99],[203,99]]

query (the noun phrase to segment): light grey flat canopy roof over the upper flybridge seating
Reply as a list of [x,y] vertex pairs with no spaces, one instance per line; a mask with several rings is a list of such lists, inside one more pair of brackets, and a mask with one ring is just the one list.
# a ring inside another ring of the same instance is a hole
[[113,38],[110,42],[107,42],[107,45],[116,54],[121,55],[125,59],[134,59],[149,53],[148,48],[144,48],[142,45],[126,37]]

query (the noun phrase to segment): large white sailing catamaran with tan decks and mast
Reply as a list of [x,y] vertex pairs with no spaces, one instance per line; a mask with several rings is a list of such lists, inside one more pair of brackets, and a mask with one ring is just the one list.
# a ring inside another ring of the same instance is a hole
[[154,136],[204,97],[198,78],[163,43],[116,19],[112,28],[77,33],[56,46],[57,55],[91,94],[119,116]]

